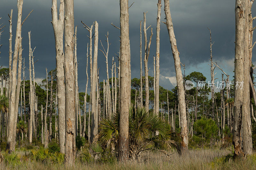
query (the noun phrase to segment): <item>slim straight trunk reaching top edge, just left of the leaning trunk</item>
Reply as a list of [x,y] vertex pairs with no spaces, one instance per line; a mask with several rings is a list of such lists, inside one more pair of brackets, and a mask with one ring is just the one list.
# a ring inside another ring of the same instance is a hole
[[161,18],[161,0],[157,3],[157,19],[156,19],[156,106],[155,114],[159,112],[159,77],[160,77],[160,18]]

